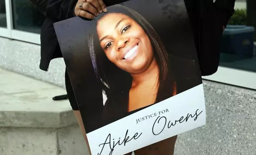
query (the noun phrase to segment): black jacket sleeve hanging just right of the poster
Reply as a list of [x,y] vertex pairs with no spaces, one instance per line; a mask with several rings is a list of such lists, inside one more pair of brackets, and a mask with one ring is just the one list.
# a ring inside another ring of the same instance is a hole
[[[194,38],[202,76],[217,72],[220,58],[220,43],[223,26],[233,15],[235,0],[198,0],[190,9]],[[192,11],[197,13],[192,13]],[[194,20],[196,19],[196,20]]]

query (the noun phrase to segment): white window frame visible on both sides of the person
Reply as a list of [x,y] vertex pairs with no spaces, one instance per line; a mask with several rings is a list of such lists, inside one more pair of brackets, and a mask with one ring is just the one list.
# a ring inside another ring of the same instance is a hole
[[[246,0],[237,0],[237,2],[246,2]],[[15,30],[13,28],[12,0],[5,0],[5,6],[7,28],[0,28],[0,37],[40,45],[40,34]],[[203,76],[202,79],[256,90],[256,72],[219,66],[215,74]]]

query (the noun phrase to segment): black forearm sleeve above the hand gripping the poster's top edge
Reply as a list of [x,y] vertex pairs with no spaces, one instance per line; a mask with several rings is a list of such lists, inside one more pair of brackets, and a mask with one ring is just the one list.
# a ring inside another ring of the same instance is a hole
[[46,17],[62,21],[74,17],[77,0],[30,0]]

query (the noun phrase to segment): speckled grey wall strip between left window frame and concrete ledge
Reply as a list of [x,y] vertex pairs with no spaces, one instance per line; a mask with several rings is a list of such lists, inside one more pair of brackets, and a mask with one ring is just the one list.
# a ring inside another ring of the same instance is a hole
[[64,60],[52,60],[48,72],[39,69],[39,61],[39,45],[0,37],[1,68],[64,87]]

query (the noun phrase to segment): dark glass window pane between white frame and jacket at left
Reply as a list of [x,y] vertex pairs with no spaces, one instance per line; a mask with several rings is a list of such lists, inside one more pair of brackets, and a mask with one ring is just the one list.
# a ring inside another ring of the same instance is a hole
[[12,0],[13,26],[16,30],[40,33],[45,16],[30,0]]

